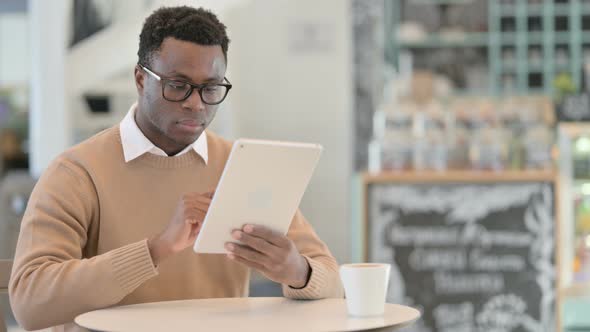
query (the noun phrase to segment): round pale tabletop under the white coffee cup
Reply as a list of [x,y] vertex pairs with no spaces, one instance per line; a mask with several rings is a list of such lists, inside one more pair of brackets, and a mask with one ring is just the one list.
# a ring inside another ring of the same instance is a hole
[[418,310],[386,304],[383,316],[349,317],[344,299],[220,298],[143,303],[91,311],[76,323],[96,331],[390,331]]

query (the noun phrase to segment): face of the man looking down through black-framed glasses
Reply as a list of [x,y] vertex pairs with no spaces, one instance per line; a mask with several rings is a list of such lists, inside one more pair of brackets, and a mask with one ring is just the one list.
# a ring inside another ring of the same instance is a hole
[[[226,64],[221,46],[203,46],[166,38],[149,69],[158,75],[193,84],[223,83]],[[162,83],[135,69],[139,94],[136,122],[155,145],[175,153],[192,144],[211,123],[219,105],[203,103],[197,89],[188,99],[173,102],[162,96]]]

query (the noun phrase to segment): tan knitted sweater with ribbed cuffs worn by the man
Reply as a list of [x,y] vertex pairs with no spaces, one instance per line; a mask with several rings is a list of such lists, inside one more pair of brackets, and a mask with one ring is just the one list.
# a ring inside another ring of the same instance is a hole
[[[112,305],[248,296],[249,269],[225,255],[187,248],[155,268],[147,247],[184,193],[216,187],[231,143],[207,135],[207,164],[194,151],[125,163],[115,126],[49,166],[23,217],[9,286],[24,328],[78,330],[77,315]],[[287,235],[312,273],[303,289],[283,286],[284,295],[341,297],[337,263],[299,211]]]

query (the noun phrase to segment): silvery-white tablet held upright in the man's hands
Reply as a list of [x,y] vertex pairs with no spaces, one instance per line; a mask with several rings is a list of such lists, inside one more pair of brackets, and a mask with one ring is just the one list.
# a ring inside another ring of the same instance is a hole
[[238,139],[193,250],[226,253],[231,232],[244,224],[268,226],[287,233],[313,170],[319,144]]

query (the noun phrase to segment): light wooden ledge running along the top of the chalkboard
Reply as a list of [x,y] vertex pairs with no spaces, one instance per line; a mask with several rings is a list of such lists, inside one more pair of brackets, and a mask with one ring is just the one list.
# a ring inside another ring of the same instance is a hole
[[557,172],[548,171],[470,171],[450,170],[436,171],[399,171],[362,174],[365,183],[401,182],[401,183],[429,183],[429,182],[527,182],[527,181],[555,181]]

